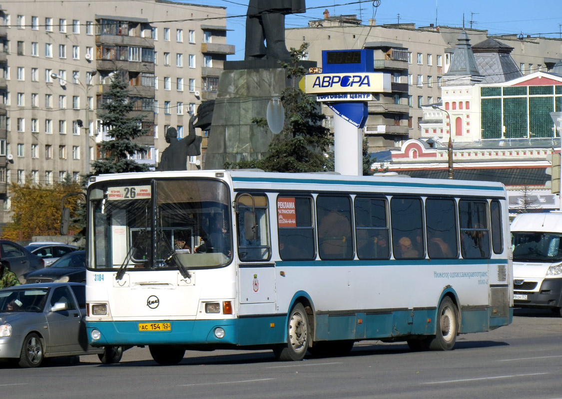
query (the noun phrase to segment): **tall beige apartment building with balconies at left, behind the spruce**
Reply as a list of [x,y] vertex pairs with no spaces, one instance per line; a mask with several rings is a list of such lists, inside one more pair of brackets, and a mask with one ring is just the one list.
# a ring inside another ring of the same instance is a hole
[[[130,84],[129,100],[154,164],[165,132],[188,134],[189,113],[214,99],[226,54],[225,7],[119,0],[2,4],[0,11],[0,210],[13,181],[78,181],[99,143],[97,118],[110,79]],[[205,132],[198,132],[205,135]],[[195,157],[188,168],[196,168]],[[10,212],[0,213],[0,223]]]

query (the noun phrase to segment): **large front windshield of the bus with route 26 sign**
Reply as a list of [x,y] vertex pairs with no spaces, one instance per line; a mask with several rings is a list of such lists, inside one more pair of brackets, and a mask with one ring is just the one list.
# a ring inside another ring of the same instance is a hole
[[232,259],[228,187],[220,181],[99,182],[89,190],[90,267],[194,269]]

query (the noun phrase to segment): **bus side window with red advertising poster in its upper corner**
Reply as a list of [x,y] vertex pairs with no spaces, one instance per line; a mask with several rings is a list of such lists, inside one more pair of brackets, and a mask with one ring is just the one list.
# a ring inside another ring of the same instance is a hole
[[279,255],[283,260],[311,260],[316,256],[310,198],[277,198]]

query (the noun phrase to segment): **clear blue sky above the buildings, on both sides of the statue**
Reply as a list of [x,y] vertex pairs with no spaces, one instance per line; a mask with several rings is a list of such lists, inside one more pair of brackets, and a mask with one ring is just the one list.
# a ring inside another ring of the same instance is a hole
[[[236,54],[227,59],[234,61],[244,58],[244,40],[247,1],[244,0],[191,0],[192,4],[226,7],[226,26],[232,31],[227,33],[228,44],[236,46]],[[375,1],[376,2],[376,1]],[[562,24],[562,6],[560,0],[544,0],[529,3],[522,0],[470,0],[464,3],[451,0],[380,0],[375,9],[372,0],[306,0],[307,12],[287,16],[286,27],[306,26],[311,19],[321,19],[325,9],[330,15],[356,14],[367,24],[375,16],[377,24],[396,24],[398,14],[400,22],[415,23],[417,26],[434,24],[462,26],[463,13],[465,26],[487,29],[489,34],[523,34],[560,37]],[[539,5],[540,4],[540,5]],[[473,13],[473,14],[471,14]],[[209,24],[221,25],[222,21],[210,21]]]

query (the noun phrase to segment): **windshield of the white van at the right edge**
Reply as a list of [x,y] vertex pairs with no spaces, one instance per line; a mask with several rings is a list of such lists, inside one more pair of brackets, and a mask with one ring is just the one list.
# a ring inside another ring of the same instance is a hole
[[516,262],[560,262],[560,233],[512,232]]

